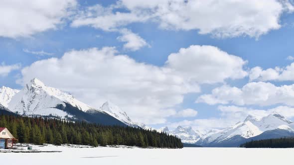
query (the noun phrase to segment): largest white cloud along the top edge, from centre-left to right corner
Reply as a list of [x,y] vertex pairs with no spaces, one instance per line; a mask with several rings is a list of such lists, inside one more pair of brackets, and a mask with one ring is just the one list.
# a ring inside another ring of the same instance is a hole
[[279,29],[284,12],[293,12],[288,0],[120,0],[108,7],[86,8],[72,26],[111,31],[134,22],[153,21],[162,29],[199,30],[216,37],[259,37]]

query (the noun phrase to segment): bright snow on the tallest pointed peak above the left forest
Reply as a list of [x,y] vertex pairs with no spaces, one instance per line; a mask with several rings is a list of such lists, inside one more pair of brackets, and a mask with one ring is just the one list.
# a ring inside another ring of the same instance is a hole
[[56,108],[58,104],[65,106],[64,102],[82,111],[94,109],[75,99],[72,95],[46,86],[37,79],[31,80],[22,90],[12,97],[8,103],[8,109],[21,115],[54,115],[65,117],[68,114]]

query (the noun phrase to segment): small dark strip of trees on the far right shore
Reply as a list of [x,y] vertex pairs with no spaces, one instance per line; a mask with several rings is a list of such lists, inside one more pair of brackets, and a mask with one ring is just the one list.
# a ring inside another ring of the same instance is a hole
[[243,148],[294,148],[294,138],[251,140],[241,144]]

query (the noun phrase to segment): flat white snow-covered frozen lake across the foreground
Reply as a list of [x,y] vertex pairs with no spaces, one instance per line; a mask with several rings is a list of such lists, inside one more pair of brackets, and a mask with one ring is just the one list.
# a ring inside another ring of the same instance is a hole
[[293,162],[294,149],[244,148],[68,148],[62,153],[0,153],[13,165],[282,165]]

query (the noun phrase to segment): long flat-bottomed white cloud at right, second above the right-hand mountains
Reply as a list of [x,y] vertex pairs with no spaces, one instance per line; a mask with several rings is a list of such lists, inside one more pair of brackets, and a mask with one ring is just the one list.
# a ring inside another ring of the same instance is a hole
[[275,86],[272,83],[247,83],[242,88],[223,85],[214,88],[211,94],[199,96],[196,102],[207,104],[294,105],[294,84]]

